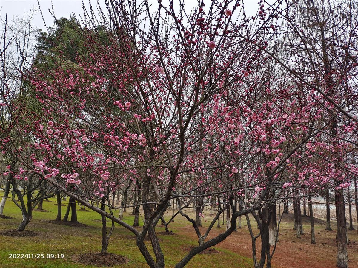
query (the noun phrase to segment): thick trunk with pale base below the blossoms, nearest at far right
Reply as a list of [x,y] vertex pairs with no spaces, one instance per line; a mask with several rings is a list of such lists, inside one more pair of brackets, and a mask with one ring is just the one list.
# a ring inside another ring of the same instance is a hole
[[337,267],[348,267],[347,254],[347,225],[345,222],[343,190],[334,191],[336,216],[337,216]]

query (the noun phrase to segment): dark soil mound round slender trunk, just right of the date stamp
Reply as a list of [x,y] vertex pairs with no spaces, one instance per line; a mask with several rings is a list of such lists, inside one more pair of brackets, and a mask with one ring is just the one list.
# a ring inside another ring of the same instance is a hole
[[93,266],[114,266],[120,265],[128,262],[128,259],[114,254],[114,253],[107,253],[106,256],[101,256],[100,253],[84,253],[79,255],[74,255],[72,260],[75,262],[80,262],[86,265],[93,265]]

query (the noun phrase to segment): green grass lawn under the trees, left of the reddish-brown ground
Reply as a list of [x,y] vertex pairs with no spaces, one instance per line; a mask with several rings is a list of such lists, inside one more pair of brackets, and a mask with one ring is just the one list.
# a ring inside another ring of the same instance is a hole
[[[0,192],[1,196],[3,192]],[[33,219],[26,227],[27,230],[36,232],[36,237],[4,237],[0,236],[0,267],[91,267],[73,262],[72,256],[87,252],[100,252],[101,250],[101,222],[100,215],[96,212],[77,211],[78,221],[88,227],[69,227],[59,224],[47,223],[45,221],[56,218],[57,206],[55,198],[52,202],[43,202],[43,208],[49,212],[33,211]],[[62,207],[62,214],[66,207]],[[124,213],[124,221],[132,224],[134,216],[129,212]],[[119,212],[116,212],[118,214]],[[21,221],[21,212],[18,207],[8,198],[4,215],[13,219],[0,219],[0,229],[14,229]],[[168,216],[169,218],[169,212]],[[143,224],[140,218],[140,226]],[[169,229],[176,233],[175,236],[159,235],[160,245],[164,252],[165,266],[174,267],[175,263],[185,256],[185,248],[197,245],[197,239],[183,232],[183,227],[188,222],[182,218],[175,218],[175,222],[169,225]],[[207,226],[208,222],[203,222]],[[110,227],[110,224],[108,224]],[[158,226],[157,232],[165,231]],[[193,232],[193,229],[191,230]],[[151,248],[150,242],[147,247]],[[187,267],[252,267],[252,260],[240,256],[237,253],[224,248],[215,247],[217,254],[198,254],[187,265]],[[129,259],[129,262],[116,267],[147,267],[135,239],[130,231],[116,224],[115,230],[110,238],[108,252],[120,254]],[[10,259],[10,253],[63,253],[64,259]],[[154,254],[153,254],[154,256]]]

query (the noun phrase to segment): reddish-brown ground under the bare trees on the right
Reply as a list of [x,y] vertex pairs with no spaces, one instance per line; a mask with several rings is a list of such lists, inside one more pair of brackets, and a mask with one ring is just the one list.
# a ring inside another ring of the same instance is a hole
[[[168,213],[169,214],[169,213]],[[169,216],[169,215],[168,215]],[[303,217],[303,224],[309,223],[309,217]],[[241,218],[242,223],[246,223],[245,217]],[[275,249],[274,256],[272,258],[272,266],[275,268],[334,268],[336,267],[337,258],[337,242],[335,240],[335,222],[331,221],[333,231],[325,231],[325,221],[316,218],[315,219],[315,237],[316,244],[311,244],[311,233],[309,226],[305,225],[304,235],[301,238],[296,238],[296,231],[293,228],[293,215],[285,215],[282,219],[282,223],[279,230],[279,242]],[[222,223],[222,217],[221,217]],[[251,219],[251,225],[253,232],[258,234],[257,224]],[[170,229],[170,224],[169,224]],[[355,226],[356,227],[356,226]],[[217,228],[216,224],[210,232],[208,239],[217,236],[225,231],[226,225],[221,225],[221,228]],[[180,234],[187,234],[193,241],[197,241],[198,238],[193,231],[193,227],[189,224],[185,227],[181,227]],[[205,233],[206,228],[200,228],[201,233]],[[252,258],[252,244],[251,237],[248,232],[247,226],[243,226],[242,229],[237,229],[237,232],[233,232],[223,242],[216,245],[216,248],[228,249],[232,252],[236,252],[242,256]],[[350,243],[347,246],[349,267],[358,267],[358,235],[357,230],[348,231],[348,237],[350,237]],[[256,254],[257,259],[260,258],[261,241],[260,238],[256,240]],[[271,247],[272,251],[273,247]],[[297,256],[297,257],[295,257]]]

